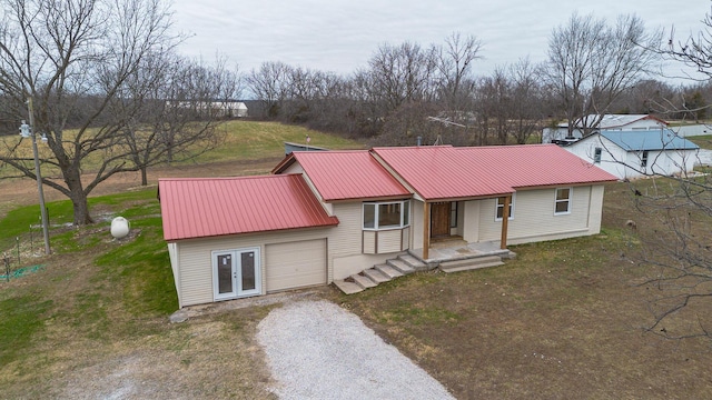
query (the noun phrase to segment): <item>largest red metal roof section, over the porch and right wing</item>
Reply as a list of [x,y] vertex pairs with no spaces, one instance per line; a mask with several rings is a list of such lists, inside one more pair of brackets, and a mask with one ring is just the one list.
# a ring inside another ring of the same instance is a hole
[[373,151],[425,200],[616,180],[556,144],[374,148]]

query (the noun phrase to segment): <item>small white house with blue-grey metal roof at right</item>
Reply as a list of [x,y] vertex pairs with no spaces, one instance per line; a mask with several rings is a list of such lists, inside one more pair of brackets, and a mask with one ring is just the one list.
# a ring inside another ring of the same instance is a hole
[[601,131],[564,149],[619,179],[690,172],[700,151],[670,129]]

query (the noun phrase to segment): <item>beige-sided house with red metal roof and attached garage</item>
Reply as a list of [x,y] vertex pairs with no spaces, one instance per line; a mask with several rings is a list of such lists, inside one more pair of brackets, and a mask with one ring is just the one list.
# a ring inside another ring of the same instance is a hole
[[293,152],[270,176],[160,179],[179,306],[339,282],[435,241],[595,234],[607,172],[555,144]]

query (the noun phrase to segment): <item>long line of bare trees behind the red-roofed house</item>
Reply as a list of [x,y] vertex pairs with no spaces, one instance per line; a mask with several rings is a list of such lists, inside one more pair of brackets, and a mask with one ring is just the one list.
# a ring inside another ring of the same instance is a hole
[[438,44],[384,43],[347,76],[266,61],[245,83],[260,104],[254,117],[378,146],[526,143],[560,122],[594,129],[606,113],[704,119],[712,87],[668,83],[663,44],[663,31],[635,16],[573,14],[552,31],[546,61],[522,58],[488,74],[477,71],[482,41],[454,32]]

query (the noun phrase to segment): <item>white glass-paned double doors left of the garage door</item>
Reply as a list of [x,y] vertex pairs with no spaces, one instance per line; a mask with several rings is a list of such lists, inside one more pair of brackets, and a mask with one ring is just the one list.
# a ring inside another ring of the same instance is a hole
[[212,277],[215,300],[259,294],[259,249],[214,251]]

